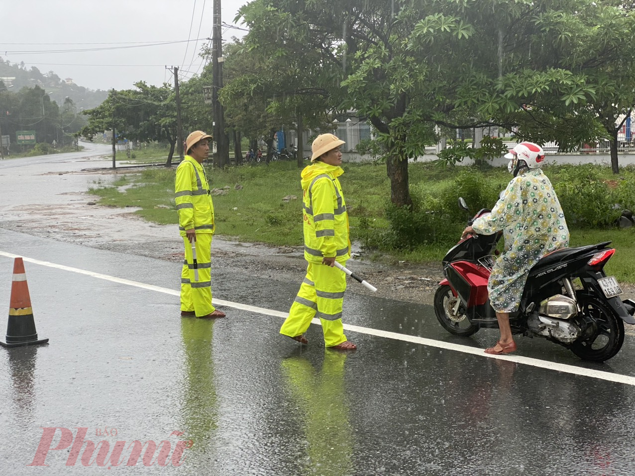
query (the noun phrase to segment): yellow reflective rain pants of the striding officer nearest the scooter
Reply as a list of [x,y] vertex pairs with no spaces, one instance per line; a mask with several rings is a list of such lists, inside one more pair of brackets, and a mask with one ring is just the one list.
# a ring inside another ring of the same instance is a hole
[[[341,264],[345,265],[346,262]],[[312,318],[319,317],[324,332],[324,345],[337,346],[346,341],[342,325],[342,303],[346,290],[346,275],[326,264],[309,262],[307,275],[300,285],[289,316],[280,329],[283,336],[304,334]]]

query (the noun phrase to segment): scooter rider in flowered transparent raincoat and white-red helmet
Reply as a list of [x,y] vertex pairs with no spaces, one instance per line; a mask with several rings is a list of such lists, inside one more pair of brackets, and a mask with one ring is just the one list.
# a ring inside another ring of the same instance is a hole
[[500,339],[485,353],[494,355],[516,350],[509,313],[518,310],[530,269],[542,257],[569,243],[565,214],[551,182],[542,172],[545,160],[542,147],[521,142],[505,158],[509,159],[507,170],[514,178],[491,213],[474,220],[461,235],[466,238],[504,233],[505,250],[495,261],[487,285]]

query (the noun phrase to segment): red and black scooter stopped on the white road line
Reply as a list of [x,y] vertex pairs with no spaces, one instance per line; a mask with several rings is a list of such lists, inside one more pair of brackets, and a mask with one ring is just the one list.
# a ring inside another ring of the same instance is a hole
[[[458,204],[469,212],[463,198]],[[490,211],[480,210],[468,224]],[[443,258],[445,279],[434,295],[434,312],[451,334],[498,329],[487,281],[501,236],[468,236]],[[584,360],[615,356],[624,343],[624,322],[635,324],[635,302],[622,301],[617,280],[604,272],[615,253],[610,243],[563,248],[542,258],[530,270],[518,311],[509,316],[512,332],[544,337]]]

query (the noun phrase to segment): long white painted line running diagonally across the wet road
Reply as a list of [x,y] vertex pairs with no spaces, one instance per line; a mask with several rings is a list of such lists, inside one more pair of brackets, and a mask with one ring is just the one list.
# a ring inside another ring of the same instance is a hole
[[[20,257],[11,253],[0,251],[0,256],[6,256],[11,259]],[[147,283],[140,283],[137,281],[126,280],[123,278],[116,278],[115,276],[104,275],[102,273],[94,273],[93,271],[86,271],[86,269],[72,268],[71,266],[64,266],[64,264],[51,263],[48,261],[41,261],[34,258],[22,257],[23,261],[33,264],[39,264],[40,266],[48,266],[49,268],[62,269],[63,271],[71,271],[72,273],[79,273],[81,275],[91,276],[113,283],[125,284],[128,286],[135,286],[141,289],[149,291],[162,292],[163,294],[170,294],[171,296],[179,296],[180,292],[174,289],[168,289],[160,286],[154,286]],[[257,306],[250,306],[249,304],[234,303],[232,301],[224,301],[222,299],[214,299],[214,304],[219,306],[227,306],[228,308],[242,309],[243,311],[250,311],[253,313],[264,314],[267,316],[274,316],[279,318],[286,318],[287,312],[274,311],[273,309],[258,308]],[[321,325],[319,319],[313,319],[311,321],[314,324]],[[518,364],[532,365],[533,367],[540,367],[542,369],[549,369],[552,371],[565,372],[568,374],[580,375],[585,377],[591,377],[594,379],[601,379],[610,382],[624,383],[627,385],[635,386],[635,377],[630,377],[622,374],[613,374],[611,372],[598,371],[594,369],[584,369],[583,367],[576,367],[575,365],[558,364],[556,362],[549,362],[548,360],[540,360],[539,358],[523,357],[521,355],[488,355],[483,353],[483,349],[474,348],[470,346],[463,346],[460,344],[452,344],[443,341],[435,341],[434,339],[426,339],[425,337],[409,336],[408,334],[399,334],[398,332],[389,332],[388,330],[371,329],[370,327],[360,327],[358,325],[344,324],[345,330],[351,332],[359,332],[359,334],[366,334],[368,336],[385,337],[386,339],[395,339],[403,342],[411,342],[413,344],[421,344],[424,346],[436,347],[438,349],[453,350],[456,352],[462,352],[466,354],[476,355],[478,357],[486,358],[498,358],[500,360],[509,360],[510,362],[517,362]]]

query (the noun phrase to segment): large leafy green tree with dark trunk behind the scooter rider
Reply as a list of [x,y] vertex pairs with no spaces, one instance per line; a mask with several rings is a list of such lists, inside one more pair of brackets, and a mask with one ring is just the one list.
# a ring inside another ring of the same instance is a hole
[[438,126],[497,125],[564,148],[597,137],[592,72],[617,66],[618,38],[635,31],[620,6],[591,0],[255,0],[239,13],[249,51],[302,51],[325,102],[370,121],[396,205],[410,205],[408,160]]

